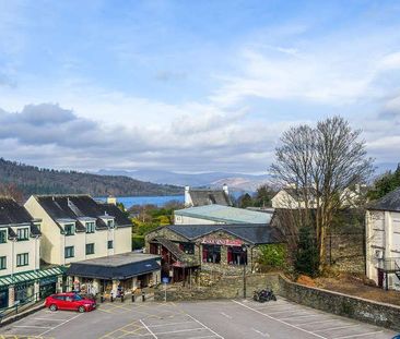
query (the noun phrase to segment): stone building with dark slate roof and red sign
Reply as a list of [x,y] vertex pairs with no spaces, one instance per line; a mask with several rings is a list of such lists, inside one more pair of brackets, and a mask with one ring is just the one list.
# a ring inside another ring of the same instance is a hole
[[256,270],[258,246],[283,243],[268,225],[170,225],[145,235],[146,252],[162,257],[162,276],[186,280],[197,270],[238,274]]

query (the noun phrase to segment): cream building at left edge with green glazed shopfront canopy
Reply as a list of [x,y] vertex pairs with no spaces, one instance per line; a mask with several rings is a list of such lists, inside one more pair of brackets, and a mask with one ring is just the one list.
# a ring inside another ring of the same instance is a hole
[[14,199],[0,197],[0,308],[56,291],[62,271],[40,269],[40,220]]

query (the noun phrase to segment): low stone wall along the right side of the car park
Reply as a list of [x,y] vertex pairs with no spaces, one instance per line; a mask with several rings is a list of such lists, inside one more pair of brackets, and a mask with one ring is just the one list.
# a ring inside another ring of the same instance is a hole
[[310,288],[280,276],[279,294],[305,306],[400,330],[400,307]]

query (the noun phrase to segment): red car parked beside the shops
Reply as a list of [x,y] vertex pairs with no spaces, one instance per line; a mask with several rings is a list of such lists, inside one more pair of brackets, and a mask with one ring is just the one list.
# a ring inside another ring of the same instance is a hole
[[77,293],[58,293],[46,298],[45,306],[50,311],[72,310],[80,313],[96,308],[96,301],[83,298]]

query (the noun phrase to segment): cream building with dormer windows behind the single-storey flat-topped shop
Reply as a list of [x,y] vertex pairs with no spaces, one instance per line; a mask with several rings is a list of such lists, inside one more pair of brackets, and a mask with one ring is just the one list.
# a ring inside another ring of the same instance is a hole
[[44,262],[69,265],[131,252],[131,222],[114,204],[89,195],[33,195],[25,208],[42,222]]

